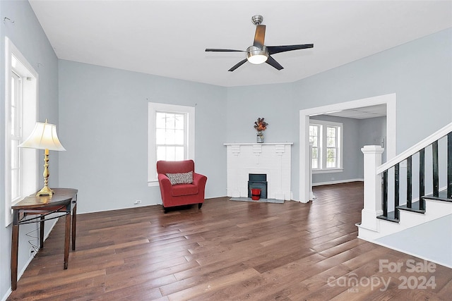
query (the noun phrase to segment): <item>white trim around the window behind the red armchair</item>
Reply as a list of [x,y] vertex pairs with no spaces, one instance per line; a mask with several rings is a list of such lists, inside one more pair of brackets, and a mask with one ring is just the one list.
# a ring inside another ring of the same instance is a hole
[[155,113],[167,111],[169,113],[184,113],[188,116],[188,154],[187,159],[195,158],[195,108],[194,106],[179,106],[175,104],[160,104],[150,102],[148,104],[148,186],[158,186],[157,154],[155,152]]

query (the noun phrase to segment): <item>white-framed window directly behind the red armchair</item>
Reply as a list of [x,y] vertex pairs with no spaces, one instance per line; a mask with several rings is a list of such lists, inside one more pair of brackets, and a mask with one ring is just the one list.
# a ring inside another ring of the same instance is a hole
[[195,108],[149,103],[148,185],[156,186],[159,160],[194,159]]

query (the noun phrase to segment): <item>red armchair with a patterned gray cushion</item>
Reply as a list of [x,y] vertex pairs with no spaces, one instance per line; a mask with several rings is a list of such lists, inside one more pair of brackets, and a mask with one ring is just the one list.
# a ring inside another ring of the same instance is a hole
[[195,173],[193,160],[157,161],[157,174],[165,213],[168,207],[187,204],[201,209],[207,177]]

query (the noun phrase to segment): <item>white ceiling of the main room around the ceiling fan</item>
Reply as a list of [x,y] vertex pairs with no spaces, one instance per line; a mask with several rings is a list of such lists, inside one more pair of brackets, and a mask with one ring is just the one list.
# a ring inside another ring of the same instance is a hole
[[[294,82],[452,27],[452,1],[30,0],[59,59],[225,87]],[[261,14],[283,67],[245,63]]]

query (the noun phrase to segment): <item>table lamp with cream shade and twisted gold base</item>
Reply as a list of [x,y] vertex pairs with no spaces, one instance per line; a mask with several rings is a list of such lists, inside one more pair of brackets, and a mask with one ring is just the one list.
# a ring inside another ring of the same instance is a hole
[[63,145],[58,140],[57,127],[54,124],[37,122],[30,137],[22,142],[18,147],[26,147],[31,149],[44,149],[44,188],[37,192],[38,197],[52,197],[53,190],[47,184],[49,183],[49,150],[65,151]]

